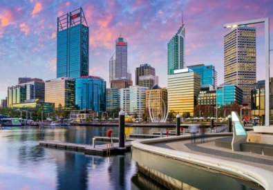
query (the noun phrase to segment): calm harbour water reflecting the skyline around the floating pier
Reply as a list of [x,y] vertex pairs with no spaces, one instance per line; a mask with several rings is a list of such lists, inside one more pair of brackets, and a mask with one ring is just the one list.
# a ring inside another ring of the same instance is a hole
[[[0,189],[161,189],[137,172],[130,153],[104,158],[38,145],[39,140],[91,144],[108,130],[117,137],[117,127],[0,130]],[[126,133],[151,131],[160,129],[126,128]]]

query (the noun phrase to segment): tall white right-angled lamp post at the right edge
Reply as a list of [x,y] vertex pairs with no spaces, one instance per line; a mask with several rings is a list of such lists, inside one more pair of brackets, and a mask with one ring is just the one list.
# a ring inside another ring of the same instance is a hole
[[270,19],[263,18],[251,21],[226,23],[224,24],[224,28],[252,23],[265,23],[265,126],[270,126]]

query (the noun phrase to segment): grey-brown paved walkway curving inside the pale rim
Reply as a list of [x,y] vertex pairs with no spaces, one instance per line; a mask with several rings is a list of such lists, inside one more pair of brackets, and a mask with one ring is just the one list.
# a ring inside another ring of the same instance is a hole
[[201,143],[200,138],[197,138],[196,143],[191,143],[191,140],[178,140],[173,142],[160,142],[149,145],[187,153],[195,153],[198,155],[205,155],[211,158],[218,158],[242,164],[248,164],[253,167],[258,167],[273,172],[273,157],[258,155],[254,153],[234,152],[230,149],[217,147],[214,144],[214,140],[218,138],[223,137],[208,137],[205,140],[205,143]]

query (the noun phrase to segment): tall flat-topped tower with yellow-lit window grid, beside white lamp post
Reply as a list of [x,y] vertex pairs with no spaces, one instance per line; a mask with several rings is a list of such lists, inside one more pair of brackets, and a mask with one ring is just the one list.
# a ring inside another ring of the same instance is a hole
[[238,26],[225,34],[225,83],[243,90],[243,103],[251,102],[256,82],[256,28]]

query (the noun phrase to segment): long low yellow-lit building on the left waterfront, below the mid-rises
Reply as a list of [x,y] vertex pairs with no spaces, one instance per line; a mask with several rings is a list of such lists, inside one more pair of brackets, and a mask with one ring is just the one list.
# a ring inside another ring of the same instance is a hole
[[43,106],[44,113],[53,113],[55,108],[50,108],[54,103],[46,102],[23,102],[19,104],[12,104],[12,108],[17,111],[32,111],[41,108]]

